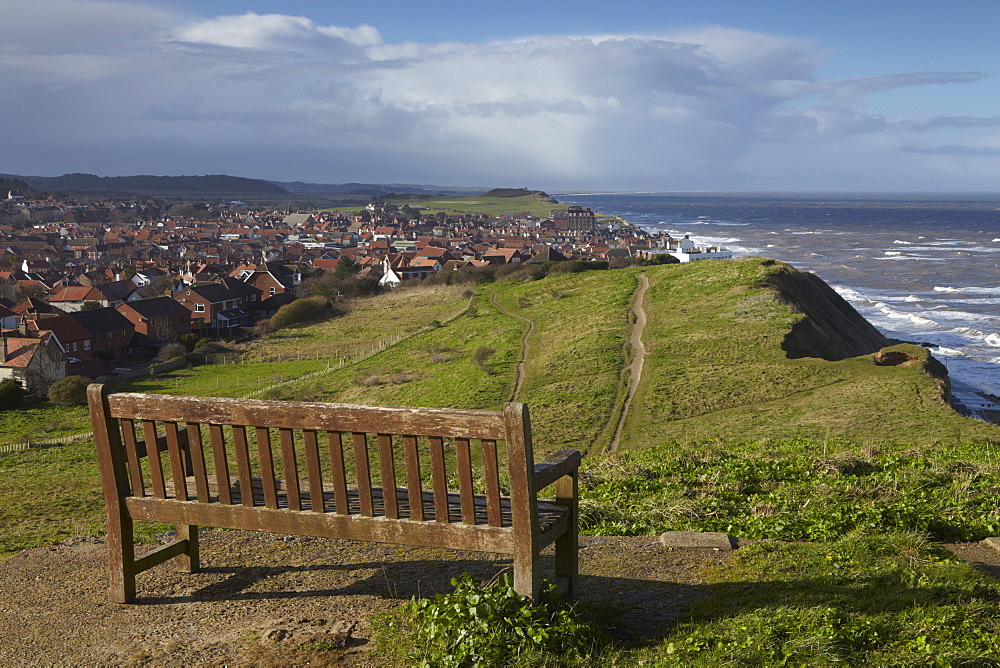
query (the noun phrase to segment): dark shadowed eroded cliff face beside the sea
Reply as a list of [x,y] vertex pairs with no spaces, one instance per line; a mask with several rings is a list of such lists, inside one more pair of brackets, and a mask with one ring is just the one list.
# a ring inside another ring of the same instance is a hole
[[782,343],[789,357],[841,360],[872,355],[899,343],[883,336],[819,276],[774,260],[762,264],[773,267],[765,285],[792,311],[805,316]]

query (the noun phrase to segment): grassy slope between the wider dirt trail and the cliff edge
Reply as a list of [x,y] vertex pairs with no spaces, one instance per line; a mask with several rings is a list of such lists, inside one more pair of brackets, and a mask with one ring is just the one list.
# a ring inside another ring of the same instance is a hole
[[774,270],[755,258],[645,270],[647,356],[624,447],[733,437],[914,445],[1000,437],[1000,428],[948,408],[923,364],[786,357],[781,344],[802,316],[758,287]]

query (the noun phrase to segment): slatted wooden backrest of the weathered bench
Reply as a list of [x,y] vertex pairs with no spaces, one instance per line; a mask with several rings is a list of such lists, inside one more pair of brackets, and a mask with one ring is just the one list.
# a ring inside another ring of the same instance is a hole
[[[510,517],[537,521],[521,403],[503,411],[395,408],[110,394],[103,385],[88,395],[106,496],[267,508],[279,507],[280,496],[281,507],[317,513],[398,519],[403,511],[411,520],[497,527]],[[504,452],[509,505],[501,498]],[[454,514],[449,480],[457,480]],[[324,484],[332,501],[322,501]],[[426,505],[401,509],[397,495],[379,487],[405,488],[410,500],[431,491],[433,503],[427,497]]]

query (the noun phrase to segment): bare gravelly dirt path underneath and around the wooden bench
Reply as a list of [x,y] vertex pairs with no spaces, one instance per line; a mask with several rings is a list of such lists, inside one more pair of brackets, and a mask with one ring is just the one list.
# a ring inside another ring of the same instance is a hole
[[[463,571],[489,578],[510,566],[504,555],[443,549],[202,536],[202,572],[168,563],[142,573],[132,605],[108,601],[105,546],[95,538],[0,563],[0,665],[373,664],[370,615],[450,591]],[[670,551],[656,537],[583,537],[580,597],[627,619],[631,639],[662,635],[704,595],[701,567],[729,553]],[[340,640],[343,649],[315,649]]]

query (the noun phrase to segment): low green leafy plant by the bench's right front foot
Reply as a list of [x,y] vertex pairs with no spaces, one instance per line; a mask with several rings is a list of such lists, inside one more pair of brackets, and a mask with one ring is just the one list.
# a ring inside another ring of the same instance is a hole
[[492,666],[541,663],[544,657],[582,658],[600,633],[576,608],[543,587],[537,605],[514,591],[509,574],[481,584],[468,573],[455,590],[414,599],[374,622],[383,658],[406,665]]

